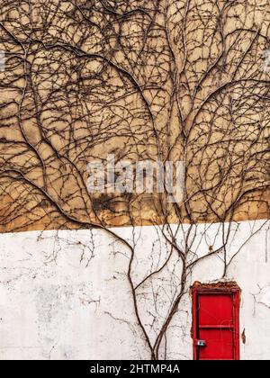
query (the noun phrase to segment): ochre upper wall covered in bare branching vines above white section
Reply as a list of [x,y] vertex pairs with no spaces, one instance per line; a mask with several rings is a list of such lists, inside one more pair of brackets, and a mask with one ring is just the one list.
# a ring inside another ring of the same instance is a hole
[[[267,218],[269,28],[267,0],[2,0],[0,231]],[[184,200],[89,193],[109,154],[183,161]]]

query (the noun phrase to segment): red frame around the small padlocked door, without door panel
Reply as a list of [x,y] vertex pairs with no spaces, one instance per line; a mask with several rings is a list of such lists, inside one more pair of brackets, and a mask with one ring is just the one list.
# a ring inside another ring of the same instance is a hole
[[239,334],[239,311],[240,311],[240,289],[234,287],[213,287],[213,285],[199,286],[193,288],[193,360],[200,360],[200,347],[197,347],[199,335],[198,322],[198,298],[203,294],[224,294],[229,293],[233,296],[233,334],[234,334],[234,360],[240,359],[240,334]]

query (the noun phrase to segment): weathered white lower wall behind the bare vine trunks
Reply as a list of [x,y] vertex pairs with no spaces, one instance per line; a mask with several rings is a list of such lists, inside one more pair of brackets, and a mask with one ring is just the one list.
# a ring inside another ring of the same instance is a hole
[[[227,280],[241,287],[242,359],[270,358],[270,245],[269,222],[243,222],[233,226]],[[176,232],[176,226],[174,227]],[[134,280],[163,264],[169,253],[158,229],[114,229],[136,242]],[[176,233],[182,243],[186,229]],[[255,234],[247,240],[250,233]],[[220,225],[196,228],[193,252],[207,255],[218,247]],[[267,240],[268,238],[268,240]],[[247,241],[247,243],[245,243]],[[244,245],[243,245],[244,244]],[[0,359],[146,359],[148,351],[136,327],[126,272],[129,250],[105,232],[46,231],[0,235]],[[175,259],[174,259],[175,258]],[[194,281],[209,283],[223,275],[223,255],[207,257],[193,270]],[[151,284],[141,298],[157,290],[160,319],[166,302],[177,289],[181,267],[177,258]],[[140,307],[142,313],[146,307]],[[153,311],[143,315],[148,329]],[[155,315],[155,314],[154,314]],[[167,334],[167,358],[191,359],[191,300],[187,293]],[[154,324],[154,337],[158,324]]]

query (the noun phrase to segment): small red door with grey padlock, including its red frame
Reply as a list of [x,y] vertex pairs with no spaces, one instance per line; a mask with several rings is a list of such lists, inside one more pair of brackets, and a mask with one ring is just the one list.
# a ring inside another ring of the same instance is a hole
[[193,292],[195,360],[239,359],[239,290],[195,289]]

